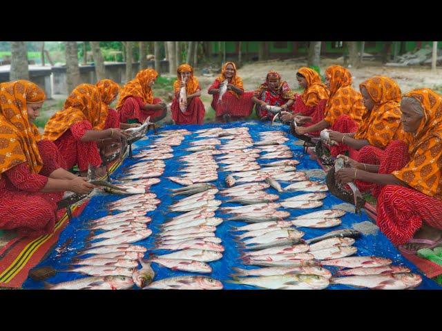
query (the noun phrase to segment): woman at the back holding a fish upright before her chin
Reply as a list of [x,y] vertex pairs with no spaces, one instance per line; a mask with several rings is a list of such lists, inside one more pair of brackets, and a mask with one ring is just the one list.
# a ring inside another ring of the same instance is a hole
[[204,104],[198,79],[193,77],[193,68],[184,63],[177,68],[177,80],[173,83],[175,98],[171,112],[175,124],[202,124],[204,121]]

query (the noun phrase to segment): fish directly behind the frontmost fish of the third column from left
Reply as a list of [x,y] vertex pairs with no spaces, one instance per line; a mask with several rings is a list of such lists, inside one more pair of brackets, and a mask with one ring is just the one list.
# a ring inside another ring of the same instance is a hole
[[294,267],[267,267],[258,269],[240,269],[232,268],[236,274],[232,277],[247,277],[247,276],[282,276],[283,274],[316,274],[327,279],[332,278],[332,272],[325,268],[316,265],[311,266],[294,266]]

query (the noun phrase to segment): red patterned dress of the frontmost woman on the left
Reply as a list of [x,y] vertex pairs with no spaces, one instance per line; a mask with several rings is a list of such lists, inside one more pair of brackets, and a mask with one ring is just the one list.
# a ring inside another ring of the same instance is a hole
[[39,174],[32,174],[27,162],[15,165],[0,178],[0,229],[17,230],[18,234],[38,237],[54,230],[57,203],[64,192],[39,192],[48,176],[58,168],[66,168],[54,143],[37,142],[43,161]]

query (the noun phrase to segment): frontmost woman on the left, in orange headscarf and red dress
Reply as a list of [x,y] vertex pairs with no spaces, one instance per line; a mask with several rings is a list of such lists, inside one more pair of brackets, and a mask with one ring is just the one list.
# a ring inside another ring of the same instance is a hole
[[95,187],[64,170],[54,143],[41,140],[32,122],[45,99],[30,81],[0,84],[0,229],[30,237],[54,230],[64,191]]

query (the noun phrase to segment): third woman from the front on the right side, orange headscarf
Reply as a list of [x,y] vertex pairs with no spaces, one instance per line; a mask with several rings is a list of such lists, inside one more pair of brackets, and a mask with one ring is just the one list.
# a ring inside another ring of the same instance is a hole
[[[356,132],[365,114],[361,93],[352,88],[352,74],[341,66],[330,66],[325,70],[325,85],[329,89],[329,99],[325,105],[324,119],[313,126],[298,126],[297,134],[320,132],[332,127],[332,130]],[[348,115],[356,126],[347,128],[347,122],[337,123],[342,115]],[[306,121],[305,117],[297,117],[297,121]],[[353,131],[352,131],[353,130]]]

